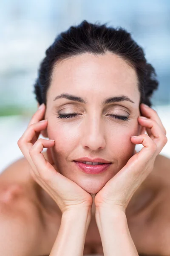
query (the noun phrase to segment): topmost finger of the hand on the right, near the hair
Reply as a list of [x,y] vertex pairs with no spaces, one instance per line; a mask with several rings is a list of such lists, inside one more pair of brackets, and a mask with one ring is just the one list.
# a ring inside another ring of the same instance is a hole
[[159,124],[162,131],[164,132],[164,134],[165,135],[167,134],[166,129],[164,128],[164,125],[162,124],[158,113],[153,108],[150,108],[149,106],[145,107],[144,104],[141,104],[141,110],[142,110],[143,116],[146,116],[147,118],[150,118],[150,119],[156,121]]

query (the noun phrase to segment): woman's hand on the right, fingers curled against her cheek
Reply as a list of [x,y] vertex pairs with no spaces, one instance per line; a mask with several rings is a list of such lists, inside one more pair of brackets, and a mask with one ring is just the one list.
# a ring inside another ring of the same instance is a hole
[[141,105],[142,115],[138,118],[147,134],[131,137],[131,142],[144,146],[134,154],[127,164],[96,194],[94,203],[97,208],[120,208],[125,212],[130,198],[153,170],[156,156],[167,143],[166,130],[155,110]]

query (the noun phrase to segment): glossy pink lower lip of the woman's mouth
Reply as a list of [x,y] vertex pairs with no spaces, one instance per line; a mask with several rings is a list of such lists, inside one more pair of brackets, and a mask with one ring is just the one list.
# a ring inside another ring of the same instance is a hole
[[[88,161],[88,162],[91,162],[91,161]],[[74,163],[77,165],[79,170],[87,174],[100,174],[102,172],[105,172],[111,165],[111,163],[104,163],[100,165],[88,165],[86,163],[82,163],[79,161],[74,161]]]

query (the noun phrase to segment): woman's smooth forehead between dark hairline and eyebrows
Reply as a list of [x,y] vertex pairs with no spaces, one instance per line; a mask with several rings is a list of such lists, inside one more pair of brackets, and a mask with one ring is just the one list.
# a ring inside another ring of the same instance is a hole
[[[53,70],[49,94],[59,93],[126,94],[132,100],[139,95],[135,70],[118,55],[85,53],[59,62]],[[55,95],[54,95],[55,94]]]

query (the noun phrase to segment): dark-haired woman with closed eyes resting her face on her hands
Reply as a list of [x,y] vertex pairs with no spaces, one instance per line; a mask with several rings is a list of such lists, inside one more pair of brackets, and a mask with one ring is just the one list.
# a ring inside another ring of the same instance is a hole
[[125,29],[84,20],[58,35],[34,85],[40,108],[18,140],[24,157],[0,176],[0,255],[170,255],[157,87]]

